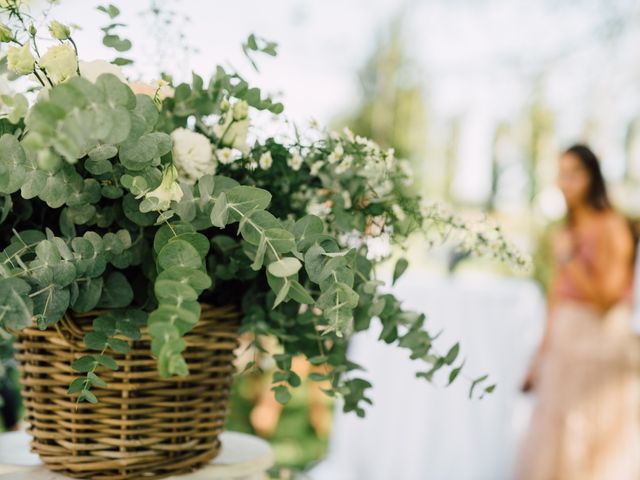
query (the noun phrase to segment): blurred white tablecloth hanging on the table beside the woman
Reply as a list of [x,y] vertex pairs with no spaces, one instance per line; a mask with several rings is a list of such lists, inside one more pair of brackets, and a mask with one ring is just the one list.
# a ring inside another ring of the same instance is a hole
[[[440,350],[461,341],[471,376],[489,373],[497,389],[469,400],[469,382],[449,388],[415,378],[406,352],[356,336],[352,359],[373,384],[365,419],[337,413],[327,459],[314,480],[508,480],[528,423],[531,400],[518,388],[544,322],[532,282],[508,277],[434,278],[409,273],[396,287],[408,307],[443,330]],[[443,379],[439,382],[443,384]]]

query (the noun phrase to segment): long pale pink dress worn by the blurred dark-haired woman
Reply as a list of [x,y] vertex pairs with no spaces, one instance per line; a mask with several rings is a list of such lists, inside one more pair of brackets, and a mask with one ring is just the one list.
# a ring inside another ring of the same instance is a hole
[[[578,239],[589,270],[595,235]],[[521,452],[518,480],[640,479],[640,344],[631,307],[601,313],[559,272],[537,406]]]

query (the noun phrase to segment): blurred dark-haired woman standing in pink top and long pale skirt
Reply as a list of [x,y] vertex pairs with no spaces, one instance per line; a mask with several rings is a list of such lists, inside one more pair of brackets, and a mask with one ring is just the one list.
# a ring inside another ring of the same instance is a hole
[[538,398],[517,478],[638,480],[633,235],[588,147],[560,157],[558,186],[568,215],[552,239],[547,325],[523,385]]

